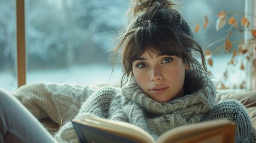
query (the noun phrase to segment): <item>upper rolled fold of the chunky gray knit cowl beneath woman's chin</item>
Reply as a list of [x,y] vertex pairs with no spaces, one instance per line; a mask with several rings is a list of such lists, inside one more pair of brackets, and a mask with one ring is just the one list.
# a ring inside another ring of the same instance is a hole
[[158,102],[148,97],[138,86],[135,79],[131,80],[131,83],[123,89],[122,93],[129,100],[155,114],[172,113],[173,111],[199,104],[202,110],[208,110],[214,105],[216,92],[214,84],[210,80],[202,80],[202,82],[206,85],[205,88],[199,89],[190,95],[174,98],[168,102]]

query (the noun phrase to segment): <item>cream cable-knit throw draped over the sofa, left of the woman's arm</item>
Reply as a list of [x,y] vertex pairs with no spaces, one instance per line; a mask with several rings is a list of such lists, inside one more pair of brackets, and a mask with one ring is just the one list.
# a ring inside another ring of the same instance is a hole
[[94,86],[57,85],[55,83],[31,83],[13,93],[37,119],[50,117],[60,124],[73,119],[82,102],[97,90]]

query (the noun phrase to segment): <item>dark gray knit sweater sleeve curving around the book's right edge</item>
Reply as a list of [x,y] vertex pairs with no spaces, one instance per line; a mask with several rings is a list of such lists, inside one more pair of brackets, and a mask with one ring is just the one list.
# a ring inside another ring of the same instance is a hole
[[236,123],[235,142],[253,142],[252,123],[245,107],[234,100],[221,101],[205,115],[205,120],[228,119]]

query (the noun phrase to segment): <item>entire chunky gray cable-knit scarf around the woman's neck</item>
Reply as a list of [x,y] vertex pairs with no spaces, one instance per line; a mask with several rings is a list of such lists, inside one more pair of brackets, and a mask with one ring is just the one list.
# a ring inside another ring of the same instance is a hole
[[122,90],[122,106],[128,122],[147,130],[154,138],[169,129],[197,123],[214,107],[215,88],[210,80],[202,80],[205,88],[168,102],[148,97],[134,80]]

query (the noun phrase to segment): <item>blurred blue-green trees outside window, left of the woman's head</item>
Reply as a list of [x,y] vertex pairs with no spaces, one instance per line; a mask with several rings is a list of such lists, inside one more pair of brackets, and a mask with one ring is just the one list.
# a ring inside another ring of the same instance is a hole
[[[16,57],[16,5],[0,2],[0,70],[8,70]],[[128,1],[119,0],[26,1],[27,69],[108,61],[127,7]]]

